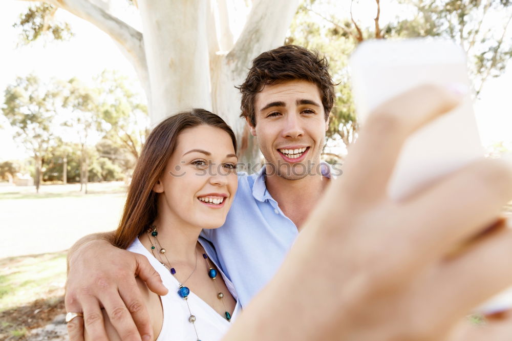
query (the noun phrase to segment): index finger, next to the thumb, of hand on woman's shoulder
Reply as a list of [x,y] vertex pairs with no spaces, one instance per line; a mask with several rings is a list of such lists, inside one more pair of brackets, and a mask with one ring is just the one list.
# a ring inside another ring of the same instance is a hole
[[124,283],[123,286],[120,286],[119,294],[126,304],[128,311],[132,315],[133,322],[135,323],[142,340],[152,339],[153,326],[151,324],[150,314],[144,304],[145,301],[142,299],[142,295],[135,278],[132,278],[132,280]]

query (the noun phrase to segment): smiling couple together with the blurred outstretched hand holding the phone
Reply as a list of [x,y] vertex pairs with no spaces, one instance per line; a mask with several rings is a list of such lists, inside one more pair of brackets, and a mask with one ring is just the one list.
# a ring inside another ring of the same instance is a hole
[[[207,111],[160,123],[118,230],[70,251],[72,341],[83,325],[94,340],[205,341],[228,328],[225,340],[499,339],[459,323],[512,281],[512,233],[475,237],[512,197],[510,168],[477,161],[402,202],[386,196],[403,142],[460,93],[425,86],[381,105],[331,183],[327,166],[311,167],[334,102],[326,60],[296,46],[262,53],[240,90],[266,167],[237,179],[236,140]],[[484,332],[508,337],[508,326]]]

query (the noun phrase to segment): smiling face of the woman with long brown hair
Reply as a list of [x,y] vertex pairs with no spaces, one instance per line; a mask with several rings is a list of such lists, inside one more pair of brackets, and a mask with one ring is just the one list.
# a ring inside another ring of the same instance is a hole
[[224,224],[237,191],[233,142],[222,129],[199,125],[185,129],[177,140],[153,190],[159,218],[201,228]]

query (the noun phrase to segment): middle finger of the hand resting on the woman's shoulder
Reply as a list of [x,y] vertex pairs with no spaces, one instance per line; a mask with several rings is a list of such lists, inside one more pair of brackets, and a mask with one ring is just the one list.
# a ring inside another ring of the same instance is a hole
[[[135,286],[135,288],[137,289],[137,286]],[[140,292],[138,295],[138,302],[142,302]],[[132,315],[130,314],[129,309],[126,307],[124,301],[121,299],[119,292],[112,295],[102,295],[99,297],[99,300],[103,302],[103,307],[105,308],[106,313],[109,315],[110,322],[122,340],[141,341],[141,336],[137,330],[137,327],[135,326]]]

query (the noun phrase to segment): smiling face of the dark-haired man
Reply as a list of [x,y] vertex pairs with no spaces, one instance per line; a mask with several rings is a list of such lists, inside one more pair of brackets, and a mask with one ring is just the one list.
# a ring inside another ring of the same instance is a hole
[[305,80],[265,86],[254,104],[256,126],[251,133],[274,166],[267,166],[267,175],[288,180],[307,176],[320,161],[328,127],[318,87]]

